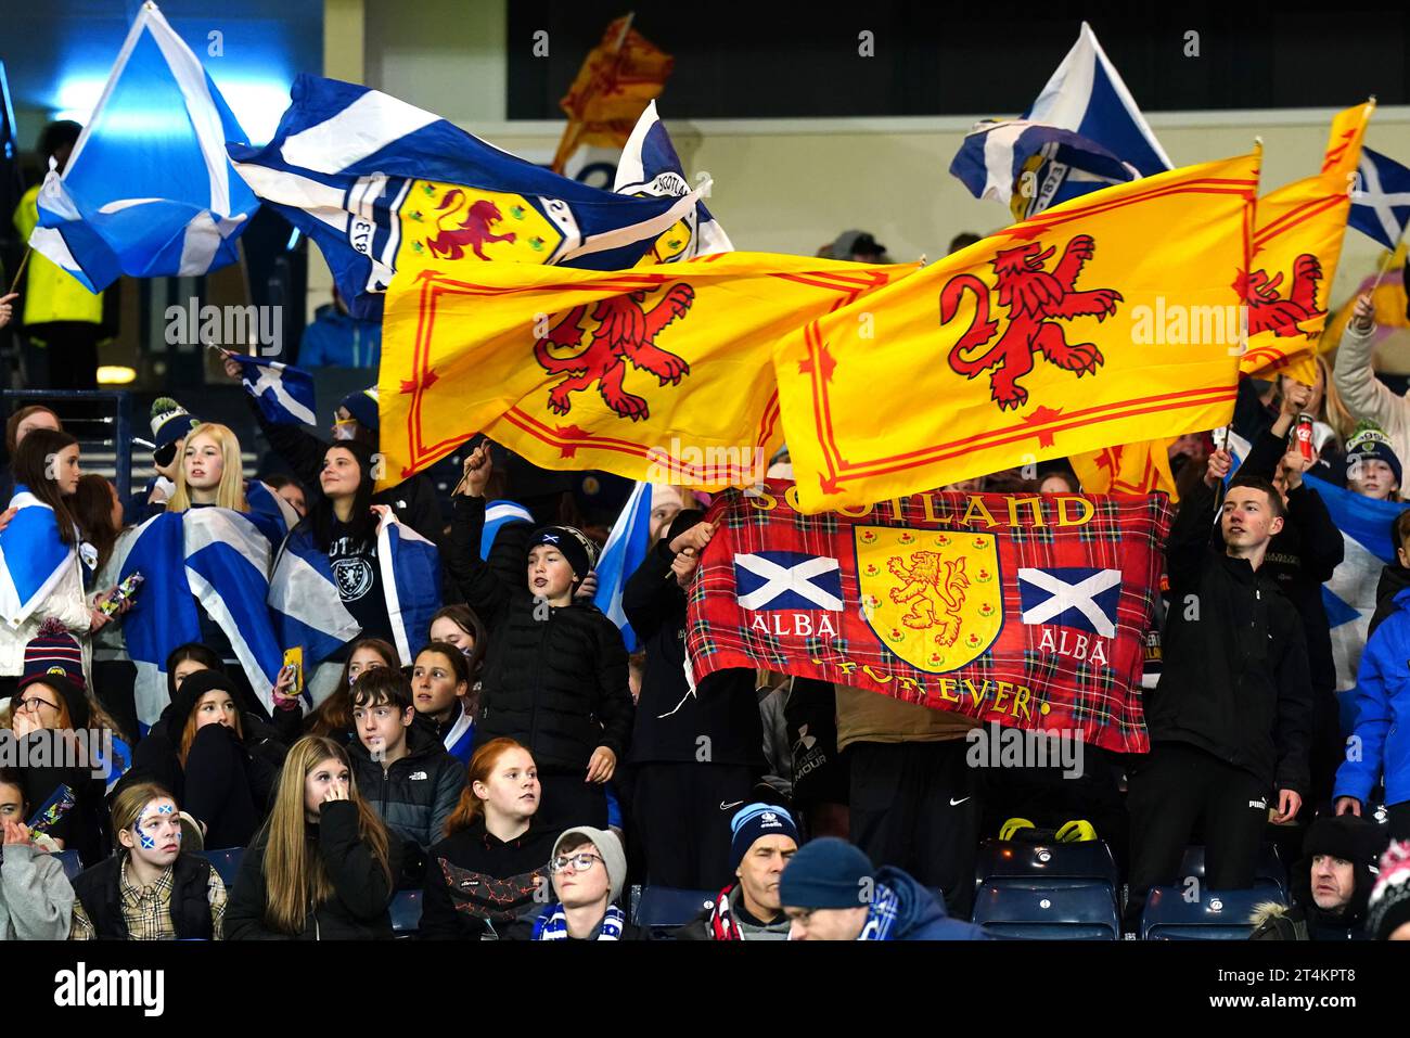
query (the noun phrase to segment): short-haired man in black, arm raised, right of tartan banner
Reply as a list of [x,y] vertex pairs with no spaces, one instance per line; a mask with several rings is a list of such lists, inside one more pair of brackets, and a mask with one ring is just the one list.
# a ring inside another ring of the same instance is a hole
[[1227,451],[1210,458],[1204,480],[1180,502],[1166,547],[1165,670],[1146,701],[1151,753],[1132,764],[1127,798],[1131,922],[1152,886],[1179,879],[1197,826],[1208,886],[1249,887],[1269,815],[1293,818],[1307,793],[1306,636],[1297,611],[1262,570],[1286,522],[1283,499],[1266,480],[1235,480],[1220,509],[1224,549],[1215,549],[1211,509],[1231,464]]

